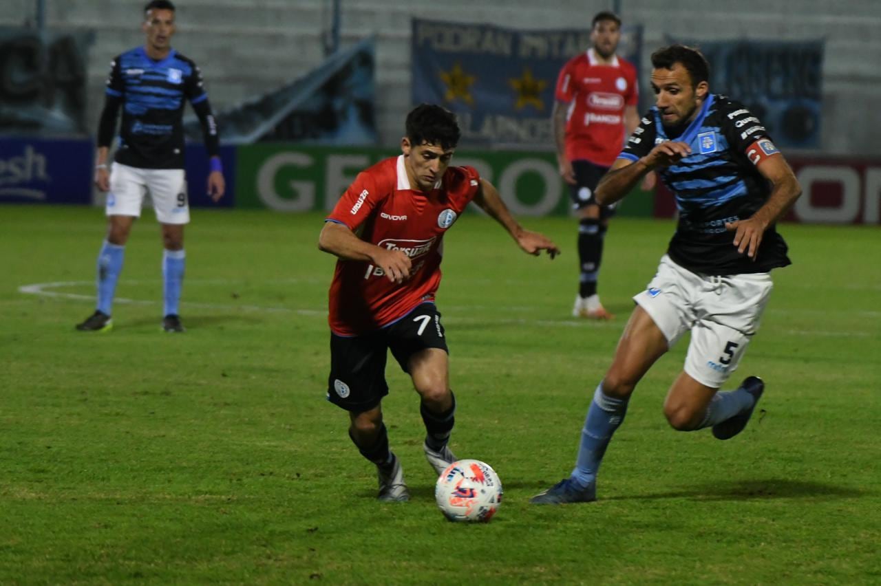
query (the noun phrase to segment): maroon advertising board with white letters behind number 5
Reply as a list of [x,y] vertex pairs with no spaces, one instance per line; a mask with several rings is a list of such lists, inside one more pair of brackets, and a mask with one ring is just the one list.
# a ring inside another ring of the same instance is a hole
[[[881,223],[881,159],[788,157],[802,196],[784,218],[798,223]],[[658,181],[655,216],[676,213],[673,194]]]

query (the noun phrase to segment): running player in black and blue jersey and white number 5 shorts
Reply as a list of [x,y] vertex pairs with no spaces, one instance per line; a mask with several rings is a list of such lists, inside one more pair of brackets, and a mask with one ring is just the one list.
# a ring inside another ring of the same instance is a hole
[[663,406],[674,429],[736,436],[765,389],[759,377],[747,377],[736,390],[719,392],[759,328],[770,270],[789,264],[774,223],[801,188],[761,121],[709,92],[700,52],[663,48],[652,67],[656,106],[597,185],[596,199],[618,201],[656,170],[676,195],[677,230],[655,278],[633,297],[637,306],[594,393],[574,470],[534,496],[537,504],[596,500],[596,472],[633,389],[686,332],[685,368]]

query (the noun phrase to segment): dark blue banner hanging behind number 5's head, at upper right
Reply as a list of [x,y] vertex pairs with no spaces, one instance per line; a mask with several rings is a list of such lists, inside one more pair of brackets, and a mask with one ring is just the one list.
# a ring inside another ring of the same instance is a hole
[[782,148],[819,149],[823,40],[692,40],[710,63],[710,91],[737,99]]

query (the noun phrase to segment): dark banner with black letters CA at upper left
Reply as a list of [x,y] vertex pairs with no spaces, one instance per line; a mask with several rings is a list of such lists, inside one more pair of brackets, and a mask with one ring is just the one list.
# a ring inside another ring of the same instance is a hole
[[18,135],[87,136],[85,84],[94,33],[0,27],[0,121]]

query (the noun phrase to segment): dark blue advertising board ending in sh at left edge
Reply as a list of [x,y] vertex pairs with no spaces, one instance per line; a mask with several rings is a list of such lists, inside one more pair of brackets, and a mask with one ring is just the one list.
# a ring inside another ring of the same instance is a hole
[[92,202],[87,139],[0,136],[0,203]]

